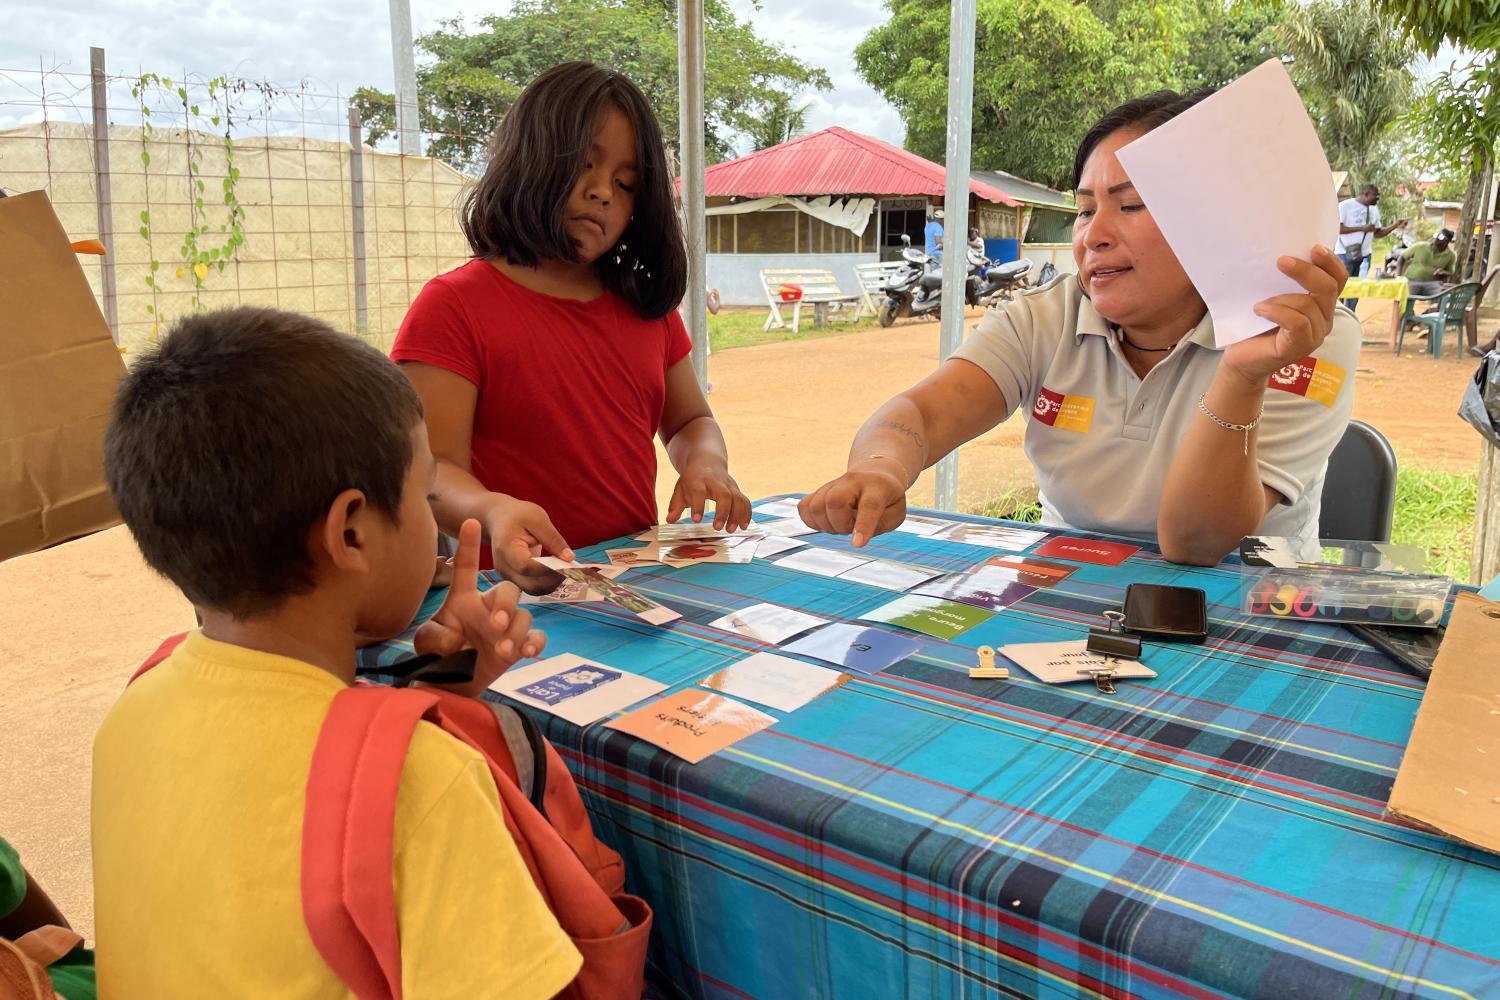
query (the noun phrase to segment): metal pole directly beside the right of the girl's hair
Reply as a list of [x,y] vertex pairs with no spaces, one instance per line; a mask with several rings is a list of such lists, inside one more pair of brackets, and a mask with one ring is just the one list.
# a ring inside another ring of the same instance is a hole
[[678,144],[682,147],[682,235],[687,238],[687,333],[693,372],[708,385],[708,273],[704,217],[704,0],[676,4]]

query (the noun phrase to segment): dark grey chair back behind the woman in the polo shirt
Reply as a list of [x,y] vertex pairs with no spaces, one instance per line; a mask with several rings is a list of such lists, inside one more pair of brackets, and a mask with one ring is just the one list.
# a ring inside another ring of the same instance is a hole
[[1320,538],[1390,541],[1396,510],[1396,453],[1384,435],[1350,420],[1328,457]]

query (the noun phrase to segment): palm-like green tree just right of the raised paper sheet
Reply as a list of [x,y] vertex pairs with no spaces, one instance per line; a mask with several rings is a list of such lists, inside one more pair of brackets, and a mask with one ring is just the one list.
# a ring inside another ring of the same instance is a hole
[[1287,9],[1276,37],[1335,169],[1389,181],[1390,126],[1412,108],[1414,46],[1368,0],[1311,0]]

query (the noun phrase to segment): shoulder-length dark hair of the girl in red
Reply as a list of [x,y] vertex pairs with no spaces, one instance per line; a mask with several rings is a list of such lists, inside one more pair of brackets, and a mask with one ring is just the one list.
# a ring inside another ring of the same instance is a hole
[[464,199],[464,235],[477,258],[502,256],[519,267],[578,261],[578,247],[562,228],[566,205],[609,108],[634,126],[639,180],[634,217],[621,237],[628,249],[620,264],[606,252],[594,270],[636,313],[660,319],[687,289],[687,247],[672,204],[675,178],[645,94],[610,69],[562,63],[531,81],[495,130],[484,175]]

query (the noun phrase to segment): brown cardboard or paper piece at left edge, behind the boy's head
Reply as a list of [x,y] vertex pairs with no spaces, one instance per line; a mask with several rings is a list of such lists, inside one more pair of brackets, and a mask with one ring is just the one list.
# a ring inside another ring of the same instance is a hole
[[120,522],[104,429],[123,372],[46,193],[0,198],[0,559]]

